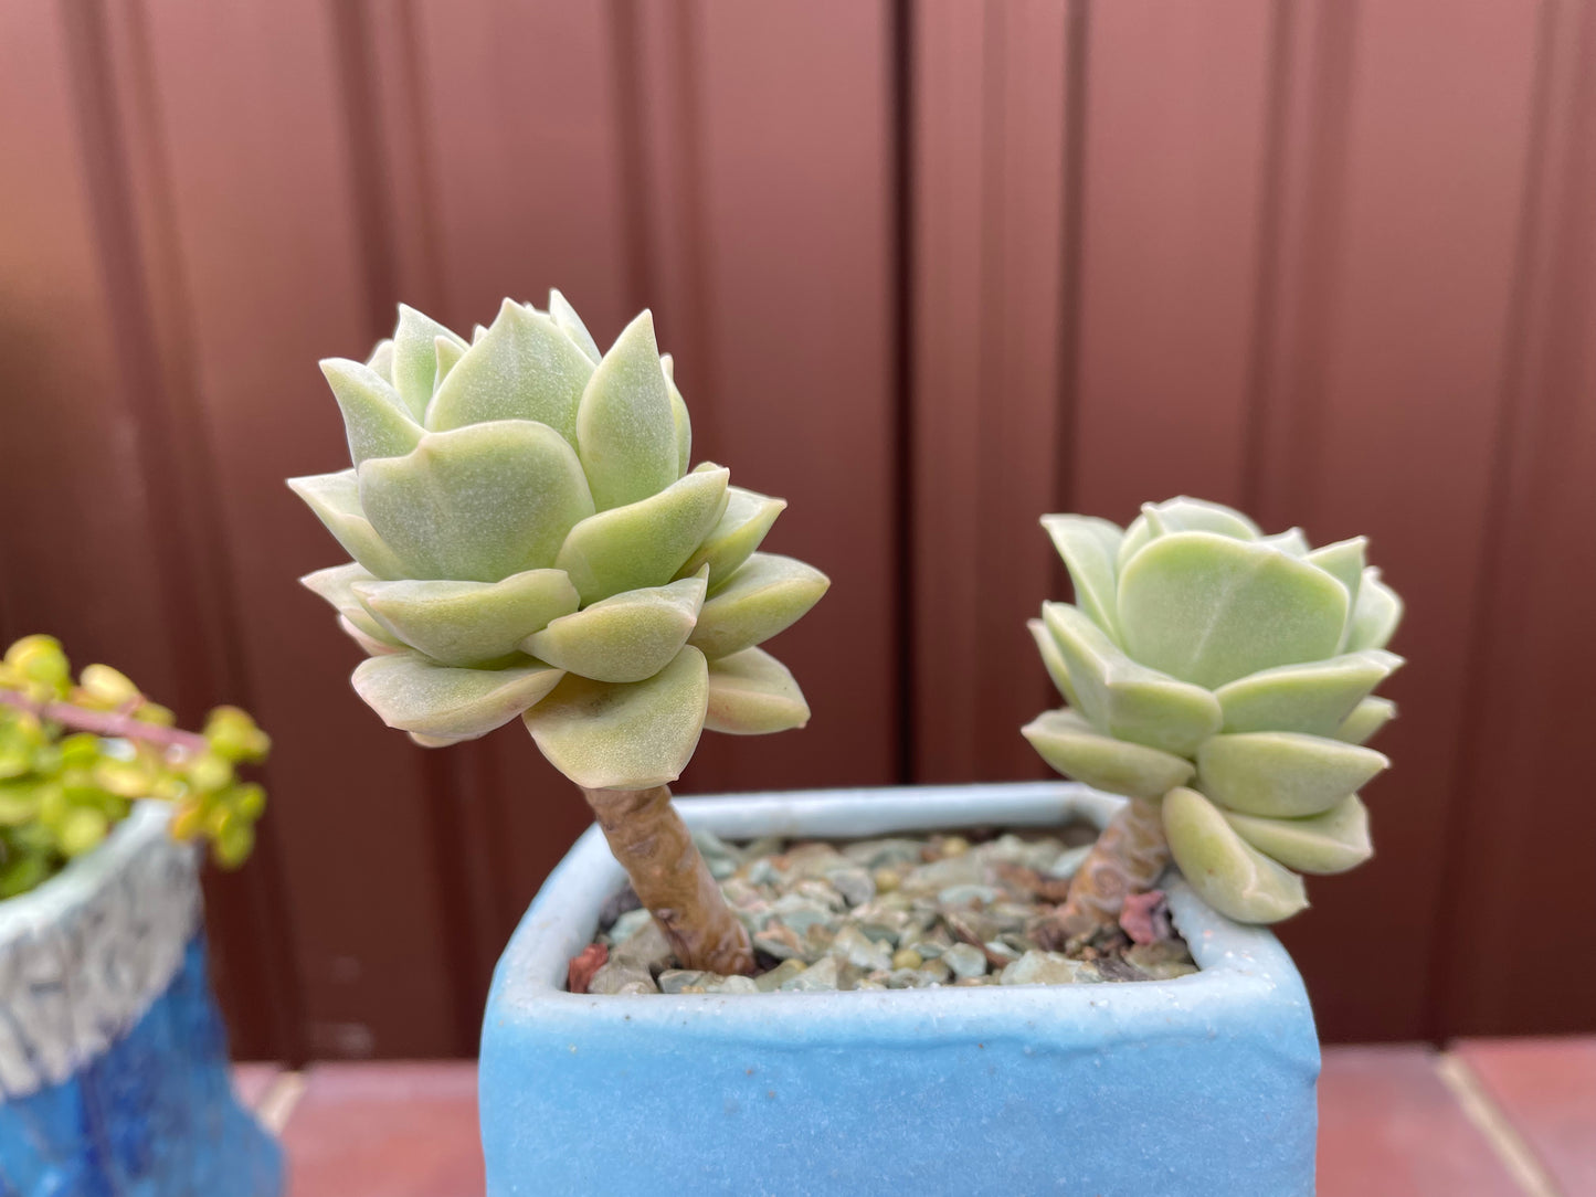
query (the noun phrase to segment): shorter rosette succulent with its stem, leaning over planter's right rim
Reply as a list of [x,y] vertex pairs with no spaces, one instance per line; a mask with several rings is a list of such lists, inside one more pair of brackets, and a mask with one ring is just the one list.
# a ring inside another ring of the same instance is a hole
[[1358,790],[1390,763],[1365,747],[1395,715],[1373,691],[1401,658],[1401,600],[1365,538],[1310,549],[1231,508],[1175,498],[1120,530],[1045,516],[1076,602],[1031,621],[1068,702],[1025,728],[1060,772],[1132,801],[1053,916],[1068,942],[1112,921],[1170,854],[1216,910],[1275,922],[1301,873],[1373,849]]

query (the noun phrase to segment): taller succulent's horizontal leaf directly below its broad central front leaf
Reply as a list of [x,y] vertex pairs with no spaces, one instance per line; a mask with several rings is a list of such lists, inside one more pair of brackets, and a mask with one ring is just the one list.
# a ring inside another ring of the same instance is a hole
[[498,583],[364,581],[354,594],[385,635],[444,666],[508,658],[531,632],[578,605],[576,587],[560,570],[525,570]]

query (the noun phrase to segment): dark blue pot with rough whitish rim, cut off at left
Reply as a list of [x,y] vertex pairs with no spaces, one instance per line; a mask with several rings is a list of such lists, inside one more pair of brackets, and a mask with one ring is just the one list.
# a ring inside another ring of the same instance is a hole
[[235,1100],[196,851],[144,803],[0,902],[0,1194],[275,1197],[278,1144]]

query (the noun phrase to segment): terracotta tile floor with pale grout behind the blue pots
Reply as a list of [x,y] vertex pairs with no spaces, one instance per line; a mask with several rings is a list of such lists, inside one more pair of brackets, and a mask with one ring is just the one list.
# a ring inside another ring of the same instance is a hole
[[[482,1194],[471,1063],[243,1065],[239,1090],[289,1197]],[[1596,1197],[1596,1037],[1328,1047],[1318,1093],[1318,1197]]]

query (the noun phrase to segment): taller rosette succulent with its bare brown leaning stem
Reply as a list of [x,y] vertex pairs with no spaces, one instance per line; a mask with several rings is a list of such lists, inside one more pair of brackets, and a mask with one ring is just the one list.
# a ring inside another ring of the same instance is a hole
[[581,787],[686,967],[752,948],[670,806],[704,728],[800,728],[758,648],[825,592],[760,543],[787,506],[689,469],[691,425],[640,314],[600,354],[560,292],[466,342],[412,308],[322,373],[353,468],[289,485],[354,559],[303,583],[370,656],[354,689],[426,747],[520,717]]

